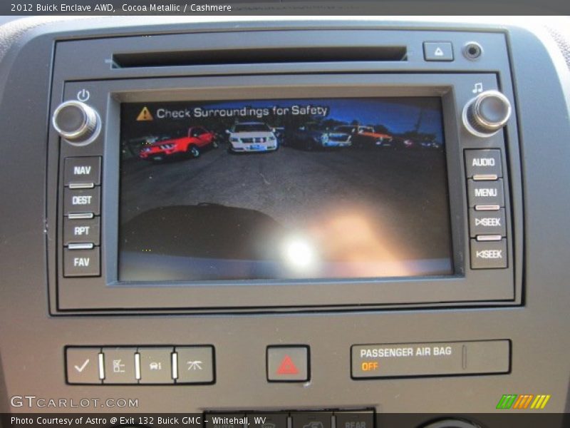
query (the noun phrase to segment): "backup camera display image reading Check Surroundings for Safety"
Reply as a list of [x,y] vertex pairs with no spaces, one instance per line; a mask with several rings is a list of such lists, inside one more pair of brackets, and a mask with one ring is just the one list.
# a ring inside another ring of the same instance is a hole
[[437,97],[123,103],[121,281],[450,275]]

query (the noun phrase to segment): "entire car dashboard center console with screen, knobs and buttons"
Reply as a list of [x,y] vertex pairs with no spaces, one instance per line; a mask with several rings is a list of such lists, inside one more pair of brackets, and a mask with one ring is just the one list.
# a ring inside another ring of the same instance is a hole
[[7,402],[299,428],[504,394],[564,412],[569,70],[547,33],[158,21],[47,25],[4,56]]

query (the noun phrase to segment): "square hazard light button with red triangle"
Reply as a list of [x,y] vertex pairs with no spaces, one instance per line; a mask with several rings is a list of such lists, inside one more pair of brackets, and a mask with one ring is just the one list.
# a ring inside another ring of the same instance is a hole
[[309,380],[309,347],[267,347],[269,382],[306,382]]

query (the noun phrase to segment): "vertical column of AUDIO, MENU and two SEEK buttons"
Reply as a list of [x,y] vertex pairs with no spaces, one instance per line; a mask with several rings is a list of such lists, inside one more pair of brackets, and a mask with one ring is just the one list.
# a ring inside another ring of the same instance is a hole
[[507,225],[499,149],[466,150],[471,268],[507,267]]

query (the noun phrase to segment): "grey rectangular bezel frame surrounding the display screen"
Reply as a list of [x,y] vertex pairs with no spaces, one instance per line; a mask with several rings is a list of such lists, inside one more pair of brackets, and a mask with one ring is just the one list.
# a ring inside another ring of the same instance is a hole
[[[311,307],[375,307],[430,302],[512,301],[513,263],[504,270],[471,270],[467,230],[467,200],[463,149],[480,147],[462,129],[460,106],[470,98],[473,81],[485,88],[497,88],[492,74],[353,74],[299,76],[231,76],[157,78],[148,80],[98,81],[98,107],[106,126],[100,146],[103,150],[102,276],[71,281],[58,275],[60,310],[296,310]],[[86,83],[67,83],[65,97]],[[331,96],[331,91],[334,95]],[[372,280],[235,280],[187,282],[118,281],[118,198],[120,156],[120,103],[151,101],[210,101],[244,98],[343,98],[351,96],[437,96],[441,98],[450,194],[452,260],[454,275],[375,278]],[[219,95],[217,95],[219,94]],[[254,94],[254,96],[252,96]],[[65,98],[64,97],[64,98]],[[482,147],[504,149],[504,133],[488,138]],[[103,141],[105,143],[103,144]],[[506,153],[505,151],[503,153]],[[62,156],[64,154],[62,153]],[[506,158],[506,156],[504,156]],[[503,159],[504,170],[507,160]],[[505,176],[507,213],[509,185]],[[61,210],[61,206],[60,206]],[[507,215],[507,230],[511,230]],[[509,256],[512,233],[508,234]],[[58,250],[61,253],[61,249]],[[75,285],[71,285],[75,282]],[[293,288],[294,287],[294,288]],[[132,290],[133,288],[136,289]]]

